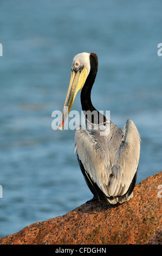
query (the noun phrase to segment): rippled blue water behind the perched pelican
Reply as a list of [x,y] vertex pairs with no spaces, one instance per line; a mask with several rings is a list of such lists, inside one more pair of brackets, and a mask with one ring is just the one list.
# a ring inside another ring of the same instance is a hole
[[[74,131],[51,129],[77,53],[98,54],[96,109],[111,111],[121,128],[128,118],[138,127],[137,183],[161,171],[161,23],[160,0],[0,2],[1,237],[92,198],[74,155]],[[80,95],[72,109],[81,111]]]

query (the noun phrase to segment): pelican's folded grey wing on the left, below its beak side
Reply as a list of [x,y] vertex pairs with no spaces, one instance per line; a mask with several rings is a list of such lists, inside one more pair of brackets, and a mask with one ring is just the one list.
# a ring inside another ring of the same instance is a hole
[[108,161],[109,150],[101,147],[96,139],[96,134],[81,127],[76,130],[74,137],[75,149],[79,160],[95,184],[107,195],[106,185],[108,184],[111,166]]

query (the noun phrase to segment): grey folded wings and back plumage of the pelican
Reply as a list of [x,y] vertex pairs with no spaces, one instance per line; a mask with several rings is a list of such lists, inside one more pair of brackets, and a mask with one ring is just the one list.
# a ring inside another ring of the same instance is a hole
[[74,145],[90,178],[107,197],[125,194],[137,172],[140,137],[132,120],[124,129],[112,121],[106,126],[105,136],[100,130],[86,130],[82,126],[75,132]]

